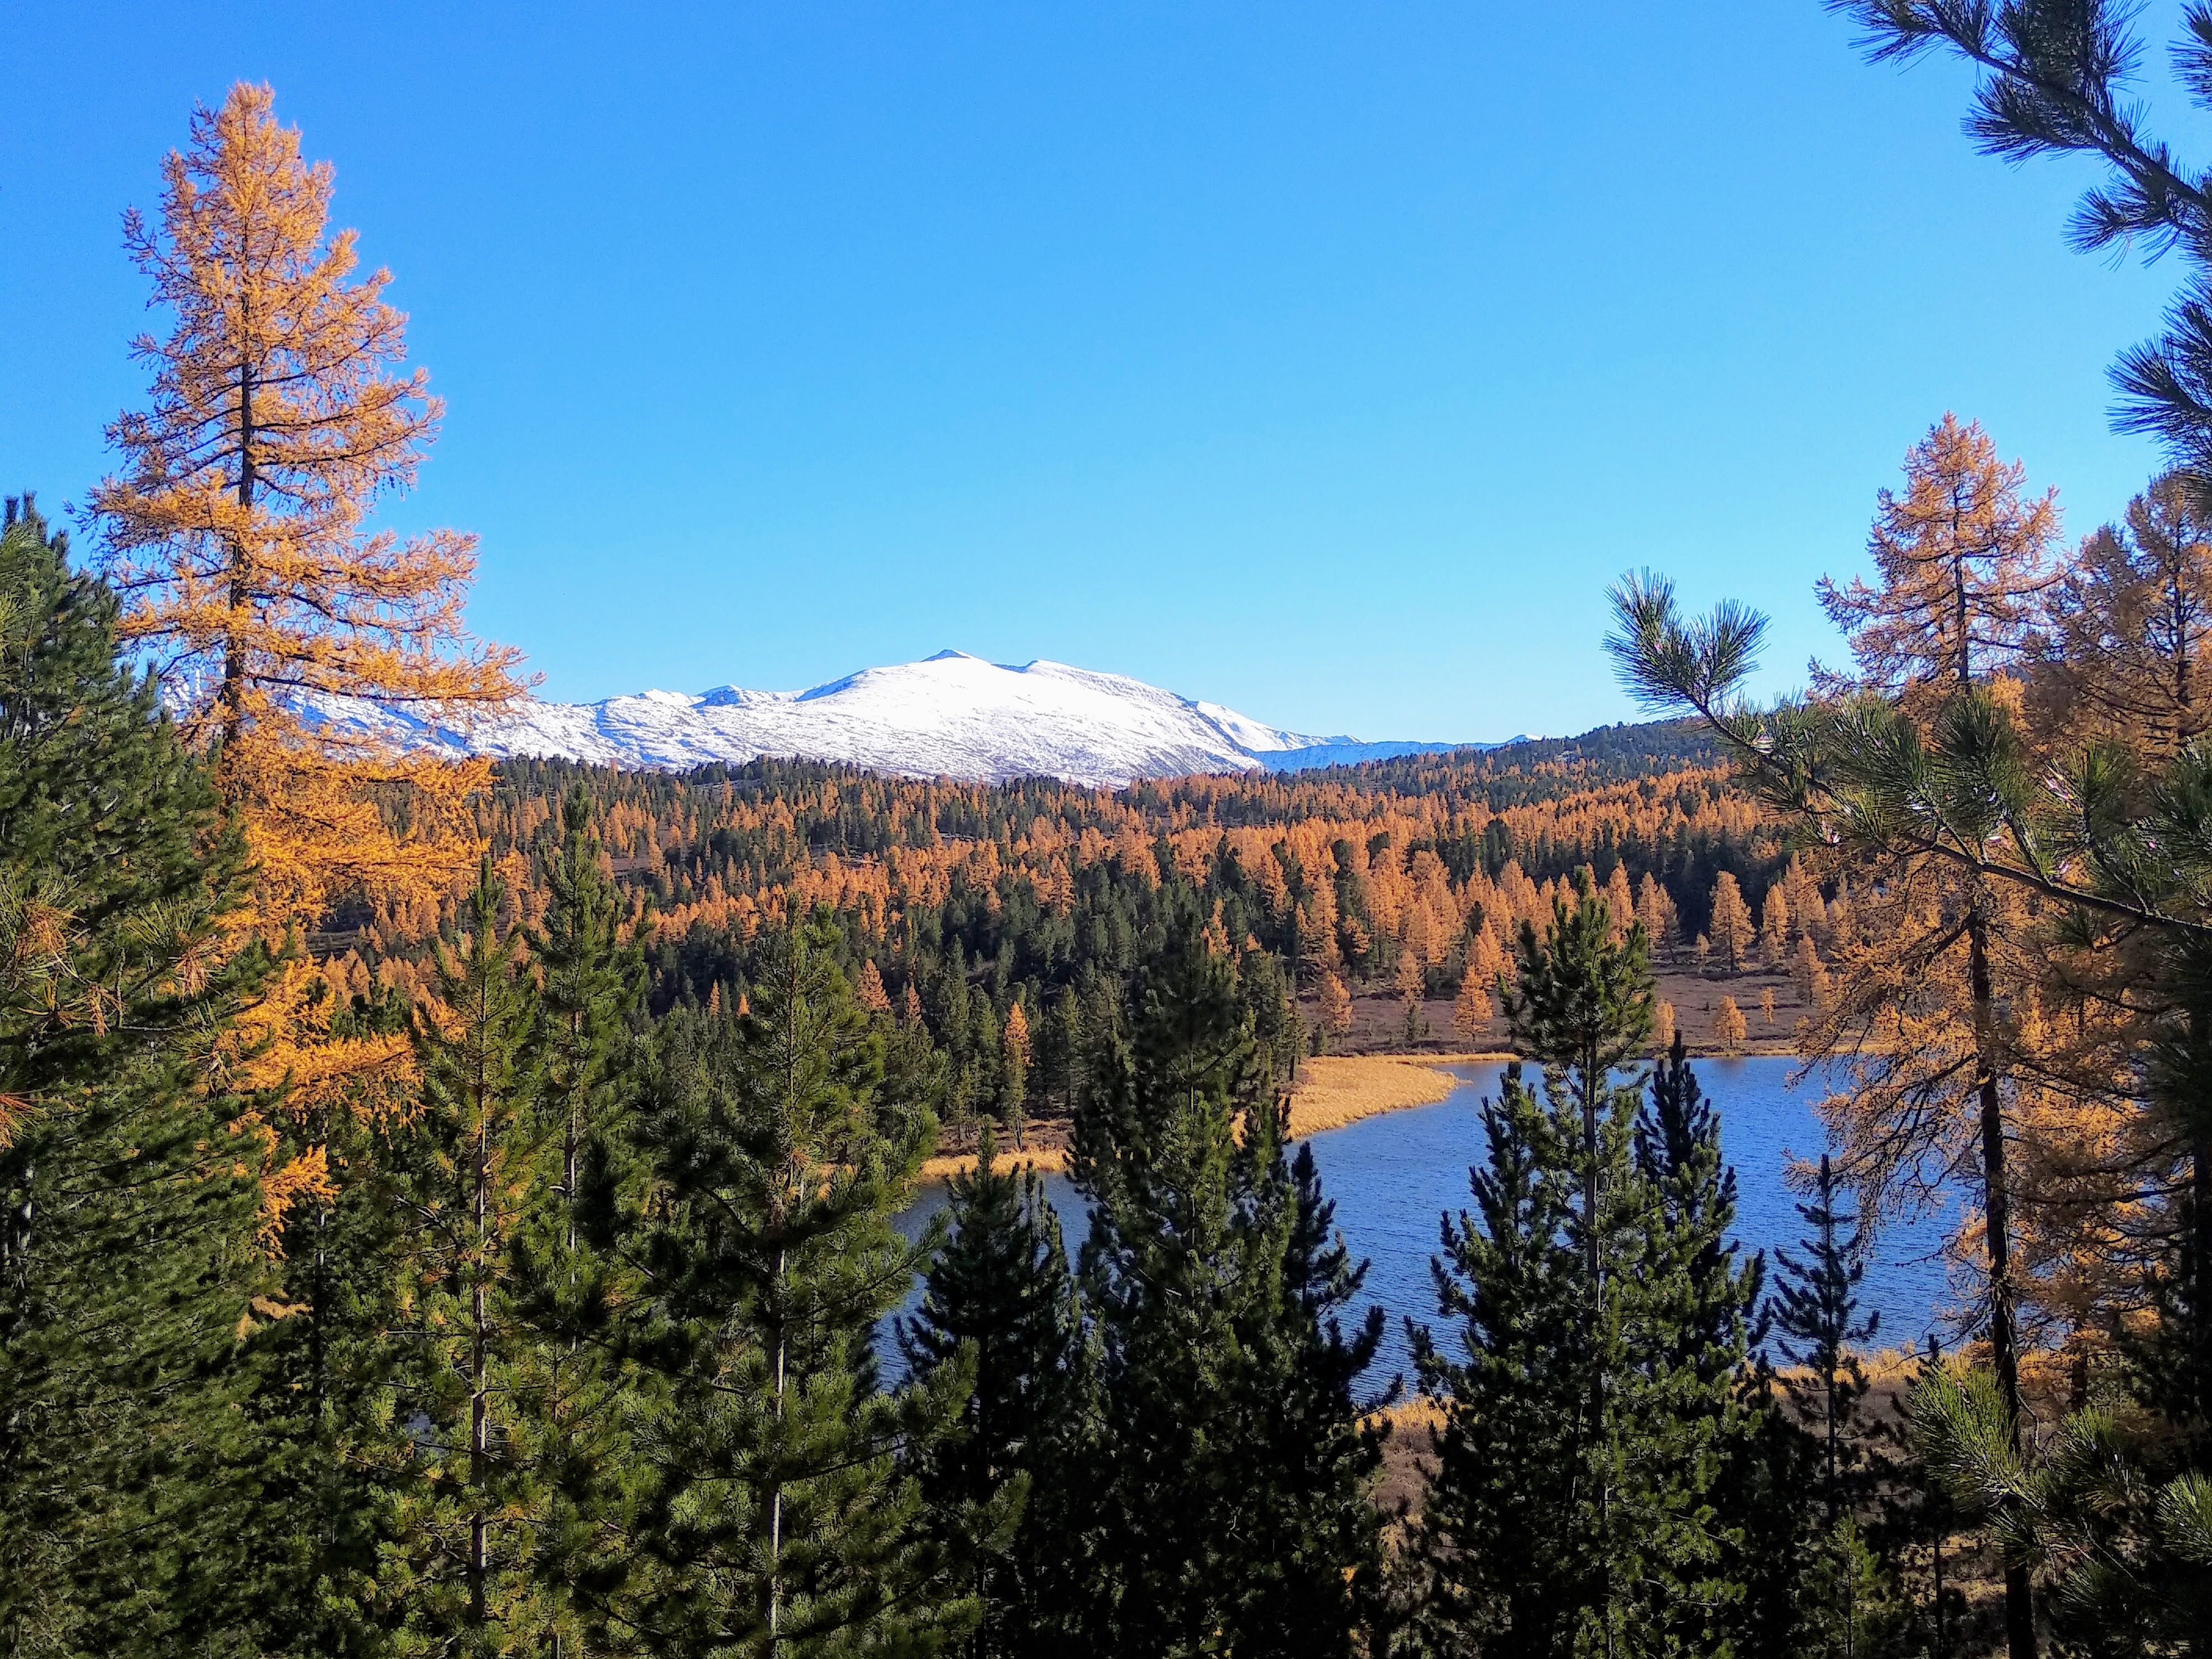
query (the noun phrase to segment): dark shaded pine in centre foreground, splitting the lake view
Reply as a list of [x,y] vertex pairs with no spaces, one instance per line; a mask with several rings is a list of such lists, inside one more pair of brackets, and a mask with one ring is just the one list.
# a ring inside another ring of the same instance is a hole
[[1329,1321],[1358,1274],[1312,1168],[1285,1168],[1267,1060],[1194,925],[1135,1006],[1075,1137],[1099,1385],[1066,1648],[1349,1652],[1376,1548],[1349,1376],[1376,1332]]

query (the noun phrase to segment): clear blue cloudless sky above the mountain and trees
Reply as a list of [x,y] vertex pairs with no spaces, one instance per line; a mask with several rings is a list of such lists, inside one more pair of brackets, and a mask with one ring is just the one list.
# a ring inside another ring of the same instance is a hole
[[18,0],[0,478],[102,473],[117,217],[239,77],[449,400],[389,522],[482,535],[549,697],[958,646],[1568,732],[1626,714],[1628,566],[1774,613],[1772,686],[1832,653],[1812,582],[1944,409],[2068,533],[2150,473],[2104,369],[2174,268],[2066,252],[2086,173],[1973,155],[1958,71],[1816,0],[1498,11]]

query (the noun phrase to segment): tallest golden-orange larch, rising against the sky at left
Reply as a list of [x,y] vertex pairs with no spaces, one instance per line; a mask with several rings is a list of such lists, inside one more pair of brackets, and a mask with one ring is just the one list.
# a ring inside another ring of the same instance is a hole
[[[254,858],[254,931],[296,938],[347,896],[434,905],[478,860],[489,765],[349,717],[449,723],[518,695],[513,653],[462,626],[473,540],[367,522],[414,480],[440,405],[400,372],[389,272],[356,276],[354,232],[327,232],[332,168],[301,159],[268,86],[195,111],[161,175],[157,221],[126,215],[124,239],[170,330],[133,343],[150,398],[108,429],[122,465],[88,498],[119,633],[215,754]],[[338,1102],[396,1104],[407,1066],[400,1037],[332,1040],[325,987],[294,956],[232,1051],[239,1082],[283,1086],[310,1139]],[[263,1133],[274,1237],[330,1183],[314,1146]]]

